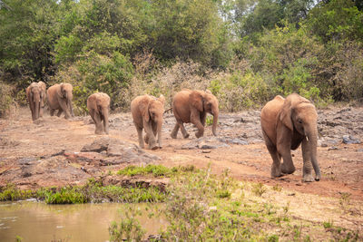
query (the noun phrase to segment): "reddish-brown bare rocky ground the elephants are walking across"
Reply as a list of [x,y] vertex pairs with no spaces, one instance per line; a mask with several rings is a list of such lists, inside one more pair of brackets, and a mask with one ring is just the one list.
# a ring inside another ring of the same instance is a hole
[[[297,208],[305,206],[304,199],[319,197],[319,208],[324,207],[321,219],[330,209],[329,198],[351,200],[354,209],[348,212],[350,225],[363,223],[363,107],[331,107],[319,110],[318,158],[322,172],[319,182],[301,182],[302,157],[300,149],[293,151],[294,174],[270,179],[271,159],[262,140],[260,111],[222,113],[219,136],[211,136],[208,127],[204,138],[196,139],[195,129],[186,125],[189,139],[173,140],[170,132],[175,121],[165,114],[163,147],[161,150],[141,150],[130,113],[114,113],[110,117],[110,134],[94,135],[89,116],[72,120],[50,117],[35,123],[30,111],[19,109],[15,115],[0,120],[0,186],[15,183],[22,189],[78,185],[91,177],[107,183],[156,182],[162,180],[123,179],[112,175],[113,170],[127,165],[162,164],[168,167],[194,165],[211,166],[221,174],[229,170],[240,180],[280,186],[288,192]],[[302,195],[299,195],[302,194]],[[313,197],[311,197],[313,196]],[[317,197],[318,196],[318,197]],[[328,200],[327,200],[328,199]],[[354,201],[354,202],[353,202]],[[335,206],[334,205],[334,206]],[[312,206],[312,205],[310,205]],[[309,216],[299,209],[302,217]],[[341,215],[339,215],[341,217]],[[347,215],[348,216],[348,215]],[[352,218],[351,218],[352,217]],[[317,215],[311,215],[316,219]]]

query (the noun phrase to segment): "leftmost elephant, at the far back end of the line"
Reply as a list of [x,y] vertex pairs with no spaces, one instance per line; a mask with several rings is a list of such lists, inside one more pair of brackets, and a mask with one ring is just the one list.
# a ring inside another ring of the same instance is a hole
[[25,90],[26,98],[29,102],[30,111],[32,111],[32,119],[36,121],[39,119],[39,112],[41,110],[44,93],[42,87],[37,82],[32,82]]

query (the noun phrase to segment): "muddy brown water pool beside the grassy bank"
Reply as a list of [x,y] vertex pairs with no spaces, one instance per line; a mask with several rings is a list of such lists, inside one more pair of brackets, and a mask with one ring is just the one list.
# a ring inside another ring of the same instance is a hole
[[108,241],[108,227],[120,222],[130,208],[142,214],[136,218],[147,231],[156,235],[165,225],[163,218],[150,218],[157,205],[120,203],[47,205],[36,201],[0,203],[0,241]]

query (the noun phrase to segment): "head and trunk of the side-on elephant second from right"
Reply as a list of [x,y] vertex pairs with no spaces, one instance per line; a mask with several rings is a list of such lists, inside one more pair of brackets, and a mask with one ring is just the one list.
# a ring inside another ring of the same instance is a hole
[[193,91],[190,95],[191,106],[196,108],[198,111],[203,113],[204,115],[208,112],[213,115],[213,124],[211,131],[214,136],[217,136],[217,124],[218,124],[218,99],[211,93],[211,91],[207,90],[203,91]]

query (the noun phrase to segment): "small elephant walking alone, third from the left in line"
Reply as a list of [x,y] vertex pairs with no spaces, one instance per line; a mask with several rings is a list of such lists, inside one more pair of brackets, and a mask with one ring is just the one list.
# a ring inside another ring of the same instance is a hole
[[[110,97],[106,93],[96,92],[87,99],[87,108],[96,126],[95,134],[108,134],[108,116],[110,111]],[[102,124],[103,122],[103,124]]]

